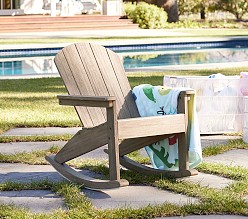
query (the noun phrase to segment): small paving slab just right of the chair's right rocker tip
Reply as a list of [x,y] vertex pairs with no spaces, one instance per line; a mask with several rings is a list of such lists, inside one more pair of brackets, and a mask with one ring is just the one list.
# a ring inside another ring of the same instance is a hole
[[196,176],[189,176],[178,180],[215,189],[223,189],[234,182],[231,179],[206,173],[198,173]]

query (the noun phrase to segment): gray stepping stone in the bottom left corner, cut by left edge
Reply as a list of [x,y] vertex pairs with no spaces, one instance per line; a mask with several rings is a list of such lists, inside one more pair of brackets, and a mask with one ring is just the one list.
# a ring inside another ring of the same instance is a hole
[[14,204],[34,213],[66,210],[63,198],[48,190],[0,191],[0,204]]

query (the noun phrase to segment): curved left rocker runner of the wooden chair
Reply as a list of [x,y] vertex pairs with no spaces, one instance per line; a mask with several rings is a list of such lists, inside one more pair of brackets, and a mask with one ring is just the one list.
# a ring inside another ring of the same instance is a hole
[[72,169],[67,164],[60,164],[55,159],[54,156],[46,156],[46,160],[66,179],[83,184],[86,188],[94,189],[114,189],[122,186],[128,186],[129,182],[125,179],[121,180],[100,180],[89,177],[85,174],[80,173]]

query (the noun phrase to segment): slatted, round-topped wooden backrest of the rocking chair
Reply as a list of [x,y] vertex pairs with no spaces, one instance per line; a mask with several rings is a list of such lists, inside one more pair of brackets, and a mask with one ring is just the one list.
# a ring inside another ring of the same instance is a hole
[[[113,51],[76,43],[63,48],[54,61],[70,95],[115,96],[119,119],[139,116],[123,64]],[[105,109],[75,108],[84,127],[106,121]]]

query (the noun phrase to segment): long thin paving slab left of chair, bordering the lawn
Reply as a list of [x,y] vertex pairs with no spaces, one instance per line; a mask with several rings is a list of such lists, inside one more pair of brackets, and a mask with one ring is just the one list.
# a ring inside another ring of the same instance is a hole
[[81,127],[60,128],[60,127],[45,127],[45,128],[14,128],[1,134],[2,136],[19,136],[19,135],[74,135]]

